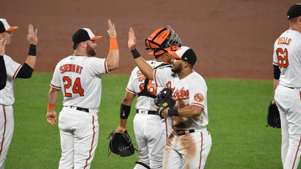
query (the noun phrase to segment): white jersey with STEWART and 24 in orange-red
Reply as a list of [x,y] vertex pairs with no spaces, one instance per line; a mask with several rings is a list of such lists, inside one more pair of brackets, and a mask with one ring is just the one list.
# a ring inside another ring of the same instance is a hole
[[106,59],[71,55],[56,65],[50,86],[62,89],[63,106],[98,109],[105,73],[109,73]]

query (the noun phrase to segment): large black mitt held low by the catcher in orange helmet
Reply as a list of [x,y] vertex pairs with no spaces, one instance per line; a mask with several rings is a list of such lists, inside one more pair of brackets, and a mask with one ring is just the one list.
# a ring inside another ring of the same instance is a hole
[[[126,157],[133,155],[135,153],[135,150],[137,151],[137,149],[134,148],[132,138],[128,134],[128,131],[124,131],[124,133],[122,133],[116,132],[116,130],[114,130],[110,134],[109,139],[108,152],[110,149],[112,153],[120,155],[121,157]],[[111,154],[111,152],[109,152],[109,155]]]

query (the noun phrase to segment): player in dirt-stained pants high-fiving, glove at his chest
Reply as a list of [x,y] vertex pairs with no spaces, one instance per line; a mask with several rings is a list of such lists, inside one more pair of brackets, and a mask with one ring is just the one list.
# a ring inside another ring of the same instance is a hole
[[[170,117],[174,132],[167,138],[163,153],[163,169],[203,169],[210,152],[212,140],[206,129],[207,86],[204,79],[193,71],[197,60],[194,51],[181,46],[168,51],[174,58],[171,69],[152,69],[137,49],[134,30],[129,32],[129,49],[144,76],[154,80],[156,86],[173,91],[174,109],[166,108],[163,117]],[[183,160],[181,162],[181,159]]]

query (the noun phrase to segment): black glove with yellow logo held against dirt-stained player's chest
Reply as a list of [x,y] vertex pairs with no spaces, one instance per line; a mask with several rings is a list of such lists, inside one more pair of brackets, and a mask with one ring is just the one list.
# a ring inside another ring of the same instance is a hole
[[172,91],[170,89],[164,88],[161,92],[159,92],[159,94],[155,98],[155,105],[159,107],[157,109],[157,112],[161,118],[162,118],[161,116],[162,111],[164,109],[166,108],[172,109],[176,104],[176,101],[171,99],[171,95],[172,95]]

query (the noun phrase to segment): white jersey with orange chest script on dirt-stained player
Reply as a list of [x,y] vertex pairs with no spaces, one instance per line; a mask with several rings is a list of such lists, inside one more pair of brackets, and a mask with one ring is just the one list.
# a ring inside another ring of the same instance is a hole
[[200,116],[171,117],[174,130],[190,130],[205,127],[208,124],[207,115],[207,85],[203,77],[193,71],[183,79],[174,74],[171,69],[155,70],[154,81],[157,86],[172,90],[172,99],[177,101],[175,108],[197,105],[203,108]]

